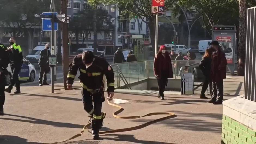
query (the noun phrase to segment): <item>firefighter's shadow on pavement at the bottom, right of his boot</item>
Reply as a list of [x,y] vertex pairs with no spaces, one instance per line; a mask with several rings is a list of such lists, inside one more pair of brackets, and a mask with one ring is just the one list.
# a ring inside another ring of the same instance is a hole
[[142,144],[175,144],[175,143],[166,143],[166,142],[155,142],[155,141],[149,141],[149,140],[138,140],[131,134],[106,134],[105,136],[101,138],[106,140],[113,140],[113,141],[123,141],[123,142],[133,142],[133,143],[142,143]]

